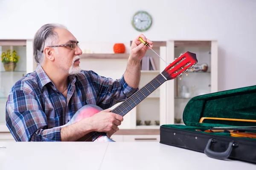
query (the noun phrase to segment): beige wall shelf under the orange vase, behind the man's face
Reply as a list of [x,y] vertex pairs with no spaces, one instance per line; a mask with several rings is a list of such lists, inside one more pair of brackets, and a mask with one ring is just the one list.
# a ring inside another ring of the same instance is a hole
[[96,54],[96,53],[83,53],[81,59],[128,59],[130,54]]

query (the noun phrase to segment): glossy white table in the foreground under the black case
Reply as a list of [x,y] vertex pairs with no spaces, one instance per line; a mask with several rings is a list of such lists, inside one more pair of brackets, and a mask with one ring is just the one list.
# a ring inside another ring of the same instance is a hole
[[0,142],[0,170],[256,170],[159,142]]

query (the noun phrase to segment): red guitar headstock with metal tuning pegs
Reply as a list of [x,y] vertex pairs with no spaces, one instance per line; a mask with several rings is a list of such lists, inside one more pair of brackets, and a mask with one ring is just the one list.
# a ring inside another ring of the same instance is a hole
[[188,75],[188,69],[193,71],[195,69],[194,65],[197,62],[196,54],[187,51],[184,54],[180,54],[180,57],[175,58],[175,60],[164,69],[162,74],[168,80],[175,79],[177,76],[181,79],[183,72]]

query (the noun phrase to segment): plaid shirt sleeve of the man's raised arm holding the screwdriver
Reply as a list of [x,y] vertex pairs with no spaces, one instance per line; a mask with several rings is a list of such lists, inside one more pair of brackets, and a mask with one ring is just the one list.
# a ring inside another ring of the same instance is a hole
[[138,88],[132,88],[125,82],[124,75],[120,79],[112,79],[90,71],[90,78],[97,91],[97,105],[103,109],[124,101],[138,90]]

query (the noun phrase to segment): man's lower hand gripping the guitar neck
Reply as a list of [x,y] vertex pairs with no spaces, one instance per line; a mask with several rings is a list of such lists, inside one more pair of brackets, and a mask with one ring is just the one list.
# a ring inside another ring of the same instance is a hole
[[112,113],[111,109],[100,111],[90,118],[93,131],[106,132],[108,134],[113,134],[118,131],[118,126],[121,125],[121,122],[123,121],[123,116]]

